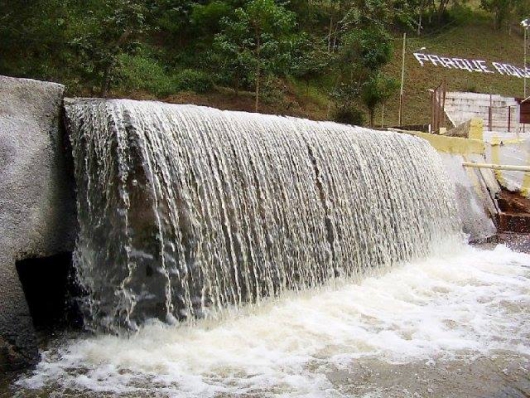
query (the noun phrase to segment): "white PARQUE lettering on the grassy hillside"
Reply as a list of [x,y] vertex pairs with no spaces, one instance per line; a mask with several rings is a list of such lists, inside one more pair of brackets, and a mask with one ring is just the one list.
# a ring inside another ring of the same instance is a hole
[[488,63],[482,59],[469,60],[464,58],[440,57],[436,54],[414,53],[414,57],[416,57],[416,60],[421,66],[430,64],[447,69],[461,69],[468,72],[498,73],[518,78],[530,78],[530,67],[524,69],[502,62],[491,62],[491,66],[489,66]]

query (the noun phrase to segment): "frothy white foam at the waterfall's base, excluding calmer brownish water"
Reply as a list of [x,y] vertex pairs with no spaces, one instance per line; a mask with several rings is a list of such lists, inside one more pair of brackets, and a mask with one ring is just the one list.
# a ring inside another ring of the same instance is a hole
[[153,323],[130,337],[74,340],[44,353],[24,388],[341,396],[326,372],[361,357],[436,363],[509,350],[530,355],[530,256],[497,246],[406,264],[360,284],[284,297],[220,322]]

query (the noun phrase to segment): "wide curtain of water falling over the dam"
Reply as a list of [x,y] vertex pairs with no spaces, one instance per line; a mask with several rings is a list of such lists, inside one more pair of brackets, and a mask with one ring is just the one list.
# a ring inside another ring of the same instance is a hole
[[130,100],[70,100],[92,325],[207,317],[428,255],[459,231],[419,138]]

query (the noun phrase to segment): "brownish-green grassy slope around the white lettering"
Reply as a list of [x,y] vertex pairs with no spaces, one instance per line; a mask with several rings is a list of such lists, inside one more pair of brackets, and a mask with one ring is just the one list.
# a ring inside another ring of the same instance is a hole
[[[501,94],[509,97],[523,96],[523,79],[514,76],[483,74],[456,69],[445,69],[429,64],[420,66],[412,55],[414,50],[426,47],[425,52],[440,56],[482,59],[488,62],[509,63],[523,67],[523,31],[518,27],[492,29],[492,22],[484,15],[475,14],[466,24],[448,26],[442,32],[424,37],[412,36],[407,41],[404,89],[404,124],[426,124],[430,120],[429,89],[437,87],[444,79],[448,91],[470,91]],[[386,69],[388,74],[400,76],[401,43]],[[530,85],[530,80],[528,80]],[[399,93],[388,101],[385,124],[397,125]],[[378,113],[377,123],[381,123]]]

